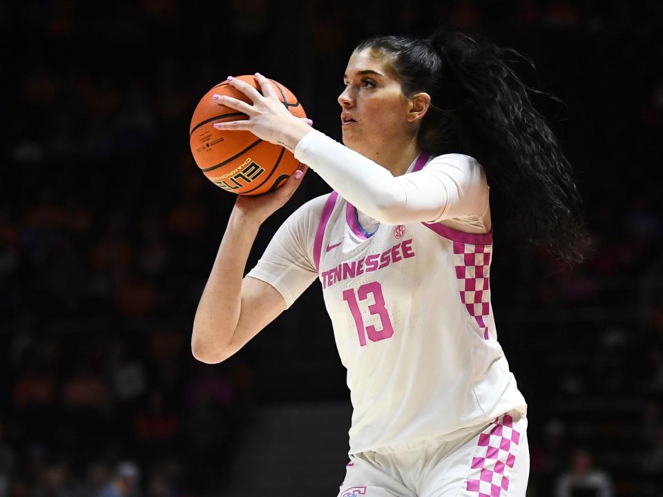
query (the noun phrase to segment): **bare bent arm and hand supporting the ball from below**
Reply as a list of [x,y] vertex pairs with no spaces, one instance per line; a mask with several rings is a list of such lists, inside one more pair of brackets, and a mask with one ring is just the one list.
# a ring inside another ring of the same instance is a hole
[[260,224],[287,202],[300,179],[293,175],[260,197],[238,197],[193,319],[196,359],[209,364],[226,360],[285,310],[276,289],[242,275]]

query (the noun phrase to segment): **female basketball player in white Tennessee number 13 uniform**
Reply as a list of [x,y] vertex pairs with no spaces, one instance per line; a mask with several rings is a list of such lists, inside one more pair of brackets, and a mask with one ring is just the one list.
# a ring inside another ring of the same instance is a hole
[[524,496],[526,402],[490,304],[489,185],[528,229],[578,260],[570,166],[505,51],[457,32],[376,37],[352,53],[338,97],[343,144],[290,115],[265,77],[252,104],[215,96],[294,151],[333,192],[301,206],[242,279],[260,224],[305,172],[238,197],[193,324],[203,362],[236,353],[320,281],[351,391],[338,496]]

